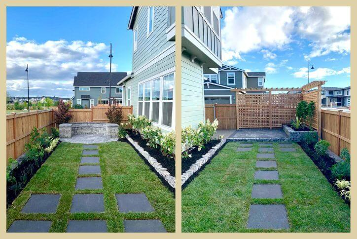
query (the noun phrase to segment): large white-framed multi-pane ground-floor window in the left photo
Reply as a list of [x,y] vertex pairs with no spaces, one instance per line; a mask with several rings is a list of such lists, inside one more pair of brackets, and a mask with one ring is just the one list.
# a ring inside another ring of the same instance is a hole
[[167,72],[139,82],[138,115],[152,120],[152,124],[157,127],[172,130],[175,73]]

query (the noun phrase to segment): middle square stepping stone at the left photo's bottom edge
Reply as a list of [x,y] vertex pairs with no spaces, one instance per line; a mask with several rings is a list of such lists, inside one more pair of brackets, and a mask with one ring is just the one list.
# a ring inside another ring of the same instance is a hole
[[103,220],[75,221],[71,220],[67,226],[68,233],[106,233],[107,222]]

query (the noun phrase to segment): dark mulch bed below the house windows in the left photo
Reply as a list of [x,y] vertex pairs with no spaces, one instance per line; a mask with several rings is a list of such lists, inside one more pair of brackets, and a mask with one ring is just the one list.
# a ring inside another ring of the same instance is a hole
[[132,130],[127,130],[128,135],[132,138],[135,142],[137,142],[140,147],[142,147],[149,155],[157,160],[157,162],[161,163],[164,168],[167,168],[167,171],[175,177],[175,159],[168,158],[162,155],[160,146],[156,149],[151,148],[146,145],[146,140],[142,139],[140,134],[135,134]]

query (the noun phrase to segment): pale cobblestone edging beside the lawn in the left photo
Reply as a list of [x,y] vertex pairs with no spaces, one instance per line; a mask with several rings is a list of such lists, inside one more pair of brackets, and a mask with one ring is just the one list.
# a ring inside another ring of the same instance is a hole
[[136,150],[150,163],[150,165],[155,168],[155,170],[165,179],[165,181],[175,189],[175,177],[172,176],[166,168],[162,167],[161,163],[157,162],[157,160],[149,155],[137,142],[135,142],[130,136],[127,134],[125,138],[134,146]]

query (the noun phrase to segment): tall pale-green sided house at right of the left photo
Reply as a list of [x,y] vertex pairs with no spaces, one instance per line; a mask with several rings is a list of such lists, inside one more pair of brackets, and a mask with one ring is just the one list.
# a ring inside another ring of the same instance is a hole
[[123,105],[170,132],[175,128],[175,7],[134,6],[128,29],[133,68],[117,83],[123,87]]

